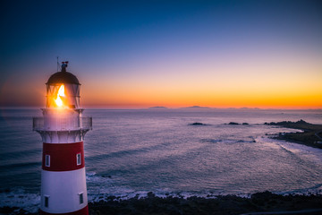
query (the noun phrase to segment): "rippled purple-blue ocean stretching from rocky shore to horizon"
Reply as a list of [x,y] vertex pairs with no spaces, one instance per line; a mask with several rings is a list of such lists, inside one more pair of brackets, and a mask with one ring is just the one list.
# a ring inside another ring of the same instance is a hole
[[[42,142],[32,116],[41,110],[0,109],[0,208],[38,211]],[[264,125],[321,124],[322,110],[86,109],[84,116],[93,117],[84,141],[90,202],[148,192],[322,193],[322,150],[270,139],[297,130]]]

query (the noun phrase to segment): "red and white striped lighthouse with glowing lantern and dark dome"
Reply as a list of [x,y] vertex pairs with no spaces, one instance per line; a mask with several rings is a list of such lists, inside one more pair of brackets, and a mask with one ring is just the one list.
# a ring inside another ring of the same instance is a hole
[[89,214],[83,140],[92,118],[82,116],[80,82],[67,65],[49,77],[43,116],[33,118],[43,142],[41,214]]

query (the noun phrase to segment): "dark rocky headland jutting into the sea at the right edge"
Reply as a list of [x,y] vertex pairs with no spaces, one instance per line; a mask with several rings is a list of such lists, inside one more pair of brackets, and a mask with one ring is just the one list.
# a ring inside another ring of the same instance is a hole
[[310,147],[322,149],[322,125],[313,125],[299,120],[297,122],[283,121],[278,123],[265,123],[265,125],[278,125],[287,128],[299,129],[303,132],[298,133],[276,133],[275,139],[288,142],[297,142]]

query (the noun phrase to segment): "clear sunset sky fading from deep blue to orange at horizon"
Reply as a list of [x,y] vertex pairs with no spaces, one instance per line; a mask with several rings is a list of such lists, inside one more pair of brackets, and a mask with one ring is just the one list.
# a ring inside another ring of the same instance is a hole
[[0,107],[322,108],[321,1],[2,1]]

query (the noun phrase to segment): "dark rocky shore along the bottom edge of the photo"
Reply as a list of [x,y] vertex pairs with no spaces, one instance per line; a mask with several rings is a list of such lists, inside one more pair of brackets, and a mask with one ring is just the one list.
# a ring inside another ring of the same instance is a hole
[[[137,196],[129,200],[117,200],[110,196],[100,202],[89,202],[89,214],[242,214],[268,211],[300,211],[322,210],[322,195],[278,195],[264,192],[252,194],[250,198],[235,195],[209,196],[201,198],[192,196],[183,197],[168,196],[157,197],[154,193],[148,193],[145,198]],[[0,208],[1,214],[12,213],[15,209]],[[317,213],[308,214],[320,214]],[[20,211],[14,214],[25,214]],[[304,213],[305,214],[305,213]]]

